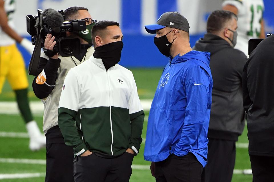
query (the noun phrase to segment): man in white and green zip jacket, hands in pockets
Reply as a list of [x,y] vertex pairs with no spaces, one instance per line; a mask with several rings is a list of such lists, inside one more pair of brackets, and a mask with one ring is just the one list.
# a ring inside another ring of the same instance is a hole
[[74,147],[75,181],[129,181],[139,152],[144,111],[132,72],[117,64],[122,39],[117,22],[95,24],[93,57],[65,78],[58,125]]

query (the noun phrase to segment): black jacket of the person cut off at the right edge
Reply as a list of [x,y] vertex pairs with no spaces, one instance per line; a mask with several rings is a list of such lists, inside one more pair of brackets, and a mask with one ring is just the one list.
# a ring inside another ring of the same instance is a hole
[[274,35],[253,50],[243,70],[249,154],[274,156]]

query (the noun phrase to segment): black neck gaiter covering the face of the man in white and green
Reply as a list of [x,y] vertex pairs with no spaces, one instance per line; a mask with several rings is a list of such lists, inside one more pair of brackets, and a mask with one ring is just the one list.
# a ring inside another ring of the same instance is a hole
[[120,61],[123,46],[124,44],[122,41],[105,44],[103,46],[96,47],[94,49],[93,56],[95,58],[102,59],[106,70],[108,70]]

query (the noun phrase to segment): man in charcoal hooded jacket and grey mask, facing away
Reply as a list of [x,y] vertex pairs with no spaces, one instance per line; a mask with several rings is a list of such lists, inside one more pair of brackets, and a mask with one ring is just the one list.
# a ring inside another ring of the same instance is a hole
[[224,10],[213,11],[207,20],[207,33],[193,49],[210,52],[214,80],[208,129],[208,163],[203,182],[231,182],[236,157],[236,141],[245,127],[242,99],[242,73],[245,54],[235,49],[237,16]]

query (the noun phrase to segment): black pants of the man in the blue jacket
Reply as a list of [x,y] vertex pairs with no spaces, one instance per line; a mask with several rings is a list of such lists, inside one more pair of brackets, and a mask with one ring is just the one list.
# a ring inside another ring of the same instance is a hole
[[202,171],[202,164],[192,153],[182,157],[171,154],[155,162],[156,182],[200,182]]

